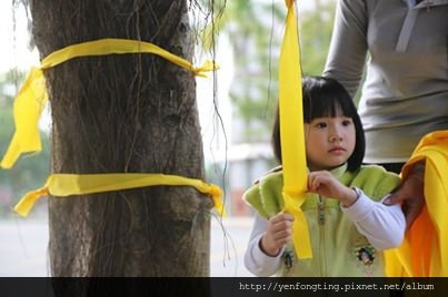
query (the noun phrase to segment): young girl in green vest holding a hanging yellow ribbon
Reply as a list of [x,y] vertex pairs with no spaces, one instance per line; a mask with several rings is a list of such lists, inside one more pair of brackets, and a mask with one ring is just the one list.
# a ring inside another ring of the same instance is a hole
[[[280,213],[280,170],[245,194],[257,211],[245,265],[257,276],[384,276],[380,250],[397,247],[406,227],[400,205],[385,204],[400,178],[382,167],[361,165],[364,131],[344,86],[331,79],[305,78],[302,88],[309,175],[301,209],[313,257],[295,255],[293,217]],[[278,113],[272,145],[281,164]]]

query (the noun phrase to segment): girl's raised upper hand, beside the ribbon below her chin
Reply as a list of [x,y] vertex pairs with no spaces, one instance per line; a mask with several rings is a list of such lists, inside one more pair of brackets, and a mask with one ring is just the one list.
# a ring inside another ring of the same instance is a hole
[[340,201],[349,207],[358,197],[355,190],[342,185],[328,171],[315,171],[308,175],[308,191]]

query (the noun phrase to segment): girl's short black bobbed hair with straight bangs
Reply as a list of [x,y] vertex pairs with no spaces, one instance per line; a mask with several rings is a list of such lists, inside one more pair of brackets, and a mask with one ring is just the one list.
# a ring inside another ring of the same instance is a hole
[[[339,110],[345,116],[351,117],[356,131],[355,151],[347,161],[347,170],[355,172],[361,166],[366,151],[366,139],[361,120],[350,95],[336,80],[320,76],[302,79],[303,121],[310,123],[316,117],[337,116]],[[272,129],[272,148],[281,164],[280,116],[279,107],[275,115]]]

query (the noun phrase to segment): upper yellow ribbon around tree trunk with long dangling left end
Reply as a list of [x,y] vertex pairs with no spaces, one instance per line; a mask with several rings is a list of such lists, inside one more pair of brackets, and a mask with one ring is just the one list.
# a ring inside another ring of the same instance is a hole
[[42,71],[70,59],[87,55],[106,55],[121,53],[152,53],[160,55],[172,63],[185,68],[195,75],[206,76],[203,72],[213,71],[218,66],[211,62],[195,68],[189,61],[179,58],[155,44],[127,39],[101,39],[83,42],[58,50],[41,61],[40,68],[32,68],[22,89],[14,101],[14,124],[16,133],[12,137],[0,167],[11,168],[22,153],[40,152],[41,142],[38,130],[40,114],[48,95]]

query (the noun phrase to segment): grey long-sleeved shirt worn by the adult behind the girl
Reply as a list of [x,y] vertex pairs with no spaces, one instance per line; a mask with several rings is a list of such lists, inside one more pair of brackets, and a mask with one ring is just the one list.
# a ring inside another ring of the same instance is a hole
[[448,129],[448,0],[338,0],[325,76],[355,95],[367,163],[405,162]]

